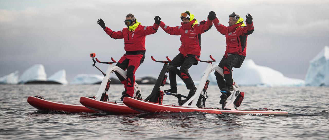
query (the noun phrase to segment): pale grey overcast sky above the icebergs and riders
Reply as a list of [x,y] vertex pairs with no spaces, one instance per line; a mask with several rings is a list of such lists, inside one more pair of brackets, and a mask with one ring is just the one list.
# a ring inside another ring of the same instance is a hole
[[[125,53],[123,39],[114,40],[96,24],[102,18],[114,31],[125,27],[128,13],[144,26],[151,26],[159,15],[168,26],[179,26],[179,15],[189,10],[198,21],[215,11],[228,26],[232,12],[245,19],[250,13],[255,30],[248,36],[246,59],[268,66],[291,78],[305,79],[309,61],[329,45],[329,1],[327,0],[165,0],[165,1],[0,1],[0,77],[34,64],[43,64],[49,76],[65,69],[67,80],[77,74],[101,74],[92,67],[90,53],[101,61],[119,60]],[[146,58],[136,77],[157,77],[162,64],[173,58],[180,47],[180,36],[170,36],[159,28],[146,37]],[[212,55],[218,62],[225,52],[225,36],[215,27],[202,34],[201,60]],[[105,64],[97,64],[104,71]],[[205,63],[193,65],[190,74],[199,80]]]

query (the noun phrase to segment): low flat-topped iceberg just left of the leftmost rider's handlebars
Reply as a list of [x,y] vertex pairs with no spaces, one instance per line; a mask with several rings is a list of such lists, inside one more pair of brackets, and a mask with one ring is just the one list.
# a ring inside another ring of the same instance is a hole
[[70,84],[95,84],[102,82],[104,76],[97,74],[78,74],[73,78]]

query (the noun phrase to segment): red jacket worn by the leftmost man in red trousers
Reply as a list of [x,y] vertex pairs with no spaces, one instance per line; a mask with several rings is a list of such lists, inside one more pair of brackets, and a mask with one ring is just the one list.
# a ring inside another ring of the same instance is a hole
[[130,31],[128,28],[123,28],[121,31],[112,31],[110,28],[105,27],[104,31],[114,39],[124,39],[125,51],[145,51],[145,36],[157,32],[159,25],[153,26],[139,25],[135,30]]

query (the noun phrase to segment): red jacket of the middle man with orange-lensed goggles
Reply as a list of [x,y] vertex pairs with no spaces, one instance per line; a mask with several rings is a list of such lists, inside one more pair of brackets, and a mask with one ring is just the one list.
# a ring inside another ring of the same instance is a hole
[[182,45],[178,49],[184,56],[196,55],[200,56],[201,51],[201,34],[208,31],[212,26],[212,21],[206,21],[205,23],[195,24],[195,20],[190,21],[190,23],[182,24],[182,26],[169,27],[160,23],[160,27],[170,35],[181,35]]

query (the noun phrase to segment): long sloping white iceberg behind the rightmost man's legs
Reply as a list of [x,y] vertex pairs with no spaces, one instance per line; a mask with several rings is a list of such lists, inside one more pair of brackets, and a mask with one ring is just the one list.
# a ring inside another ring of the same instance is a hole
[[[302,79],[285,77],[270,67],[256,65],[251,59],[244,60],[240,68],[233,68],[232,75],[239,85],[244,86],[303,86],[305,83]],[[208,79],[210,84],[217,85],[214,72]]]

